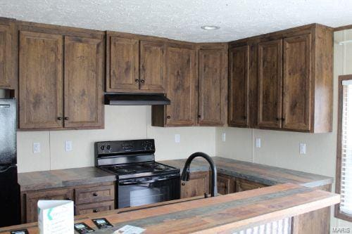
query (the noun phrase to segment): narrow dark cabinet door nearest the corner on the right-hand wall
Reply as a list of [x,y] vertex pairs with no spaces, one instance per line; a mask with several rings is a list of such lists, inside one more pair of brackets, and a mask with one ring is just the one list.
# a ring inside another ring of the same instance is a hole
[[249,46],[230,48],[229,125],[249,126]]

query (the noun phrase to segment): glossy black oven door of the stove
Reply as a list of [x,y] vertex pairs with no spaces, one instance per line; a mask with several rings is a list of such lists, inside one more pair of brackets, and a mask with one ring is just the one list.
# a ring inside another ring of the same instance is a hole
[[118,208],[180,199],[180,174],[133,178],[118,183]]

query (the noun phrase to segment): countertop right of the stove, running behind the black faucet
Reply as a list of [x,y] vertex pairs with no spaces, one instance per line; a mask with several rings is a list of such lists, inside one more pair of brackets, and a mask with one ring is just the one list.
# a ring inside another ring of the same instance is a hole
[[[225,174],[237,178],[244,178],[249,181],[263,183],[267,186],[273,186],[279,183],[295,183],[306,187],[317,187],[331,184],[334,178],[310,174],[303,171],[294,171],[280,167],[270,167],[263,164],[232,160],[225,157],[212,157],[218,174]],[[166,160],[159,161],[172,167],[179,168],[181,171],[184,167],[184,160]],[[203,158],[195,158],[191,162],[191,171],[208,171],[210,169],[208,162]]]

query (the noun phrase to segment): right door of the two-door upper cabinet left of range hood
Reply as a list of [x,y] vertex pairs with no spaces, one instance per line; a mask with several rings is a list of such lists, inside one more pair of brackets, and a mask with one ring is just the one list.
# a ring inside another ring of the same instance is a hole
[[65,127],[103,127],[103,39],[65,37]]

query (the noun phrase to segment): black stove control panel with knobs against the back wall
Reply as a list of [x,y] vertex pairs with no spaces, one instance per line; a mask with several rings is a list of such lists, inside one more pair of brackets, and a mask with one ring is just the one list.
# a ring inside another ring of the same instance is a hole
[[95,150],[97,155],[105,154],[124,154],[155,152],[155,143],[153,139],[132,140],[132,141],[102,141],[95,143]]

